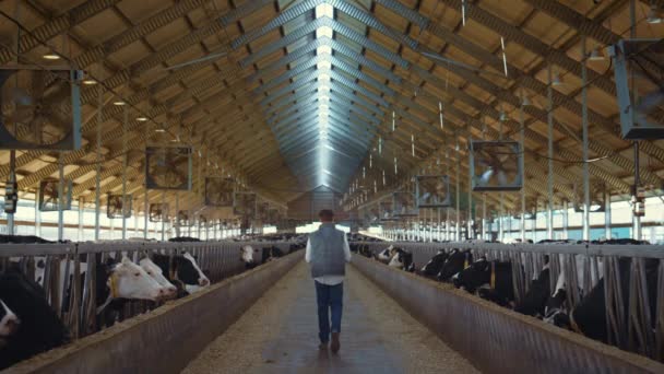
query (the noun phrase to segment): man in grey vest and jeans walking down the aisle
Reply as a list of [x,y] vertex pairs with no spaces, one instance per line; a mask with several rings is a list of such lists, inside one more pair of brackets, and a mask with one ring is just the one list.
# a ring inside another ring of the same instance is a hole
[[[305,260],[311,265],[311,277],[316,284],[318,302],[318,329],[320,349],[328,348],[332,332],[333,353],[339,352],[341,332],[341,312],[344,299],[344,276],[346,262],[351,261],[351,248],[346,234],[334,226],[334,213],[321,210],[318,214],[320,227],[309,234]],[[332,329],[330,330],[330,311]]]

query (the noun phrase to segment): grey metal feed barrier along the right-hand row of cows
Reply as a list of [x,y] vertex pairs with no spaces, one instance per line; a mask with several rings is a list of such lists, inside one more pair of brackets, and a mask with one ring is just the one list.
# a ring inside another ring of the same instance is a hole
[[[567,302],[576,307],[588,293],[605,279],[606,330],[609,344],[664,361],[664,246],[600,244],[495,244],[495,243],[404,243],[354,242],[371,253],[389,245],[413,254],[416,268],[424,266],[440,249],[470,249],[474,258],[518,264],[512,267],[514,295],[519,302],[527,292],[530,280],[537,277],[549,257],[550,288],[555,290],[560,272],[565,273]],[[619,259],[630,258],[629,294],[622,294]],[[657,261],[656,300],[650,300],[645,261]],[[578,270],[580,269],[580,271]],[[553,292],[553,291],[552,291]],[[656,303],[655,315],[651,305]]]

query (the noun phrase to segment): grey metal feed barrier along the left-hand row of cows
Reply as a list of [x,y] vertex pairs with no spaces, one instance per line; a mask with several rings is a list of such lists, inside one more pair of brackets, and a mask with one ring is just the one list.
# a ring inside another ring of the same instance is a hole
[[[71,337],[78,339],[102,329],[96,318],[95,265],[108,257],[119,259],[128,256],[134,262],[151,254],[175,256],[189,253],[197,257],[200,268],[212,283],[245,270],[240,248],[251,245],[259,249],[276,246],[284,254],[290,243],[285,242],[197,242],[197,243],[67,243],[67,244],[0,244],[0,272],[17,268],[28,278],[43,284],[46,297],[69,328]],[[43,271],[39,270],[42,269]],[[84,270],[84,276],[72,277]],[[71,284],[70,284],[71,283]],[[71,290],[71,293],[68,292]],[[71,294],[71,296],[68,296]],[[159,303],[130,301],[126,303],[122,318],[145,313]]]

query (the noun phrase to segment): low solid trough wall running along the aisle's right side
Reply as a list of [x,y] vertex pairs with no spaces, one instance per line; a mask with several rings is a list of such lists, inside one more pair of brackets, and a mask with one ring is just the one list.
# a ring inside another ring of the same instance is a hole
[[[664,365],[360,256],[353,265],[485,373],[664,373]],[[444,371],[443,369],[441,369]]]

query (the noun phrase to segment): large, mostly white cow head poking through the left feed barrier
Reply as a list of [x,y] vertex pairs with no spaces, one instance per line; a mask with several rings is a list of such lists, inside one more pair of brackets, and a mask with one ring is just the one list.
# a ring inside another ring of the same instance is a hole
[[106,285],[112,299],[157,301],[165,295],[164,288],[126,256],[112,267]]

